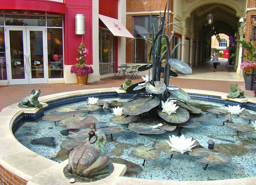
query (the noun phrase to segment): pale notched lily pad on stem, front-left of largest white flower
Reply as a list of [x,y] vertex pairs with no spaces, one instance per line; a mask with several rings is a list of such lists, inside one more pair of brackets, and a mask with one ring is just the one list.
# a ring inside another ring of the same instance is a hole
[[[134,148],[130,154],[134,157],[141,158],[144,160],[153,160],[160,156],[161,151],[159,150],[152,150],[153,147],[147,147],[147,146],[139,146]],[[151,150],[151,151],[150,151]]]

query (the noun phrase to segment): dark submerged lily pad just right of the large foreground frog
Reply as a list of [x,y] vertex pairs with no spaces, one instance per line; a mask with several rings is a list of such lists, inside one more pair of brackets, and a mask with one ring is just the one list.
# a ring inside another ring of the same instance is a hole
[[135,164],[122,158],[110,157],[110,162],[126,165],[127,169],[124,175],[138,175],[142,171],[139,164]]

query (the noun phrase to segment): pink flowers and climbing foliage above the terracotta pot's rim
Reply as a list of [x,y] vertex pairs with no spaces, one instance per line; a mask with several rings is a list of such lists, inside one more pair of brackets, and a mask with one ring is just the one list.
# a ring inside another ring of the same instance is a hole
[[78,57],[76,58],[77,64],[71,66],[70,73],[75,73],[76,75],[84,75],[84,74],[92,74],[93,67],[87,65],[87,60],[85,59],[86,55],[88,54],[88,49],[86,49],[85,45],[81,43],[78,47]]

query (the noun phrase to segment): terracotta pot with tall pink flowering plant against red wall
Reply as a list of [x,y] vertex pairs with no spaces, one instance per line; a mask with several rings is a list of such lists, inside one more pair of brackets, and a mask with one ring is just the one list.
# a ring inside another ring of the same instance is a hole
[[77,64],[74,64],[70,68],[70,73],[76,74],[76,80],[79,86],[87,85],[88,75],[93,73],[93,67],[86,64],[86,55],[88,50],[85,45],[81,43],[78,47],[78,57],[76,58]]

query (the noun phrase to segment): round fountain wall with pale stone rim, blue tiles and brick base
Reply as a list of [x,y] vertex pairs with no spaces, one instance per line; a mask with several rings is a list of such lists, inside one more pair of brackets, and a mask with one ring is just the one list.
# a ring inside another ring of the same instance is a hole
[[[200,99],[210,102],[218,102],[223,104],[237,105],[246,107],[250,110],[256,109],[256,98],[247,97],[244,99],[227,98],[227,93],[203,91],[193,89],[183,89],[189,93],[192,99]],[[69,91],[54,95],[43,96],[39,98],[42,108],[21,109],[16,104],[4,108],[0,112],[0,174],[1,181],[7,184],[69,184],[69,179],[63,175],[63,168],[68,160],[57,163],[42,157],[25,146],[21,145],[13,136],[12,130],[21,120],[33,120],[43,114],[43,109],[47,110],[56,106],[85,100],[88,96],[99,97],[126,97],[124,91],[118,88],[90,89]],[[166,180],[147,180],[121,177],[126,166],[114,164],[115,170],[111,176],[106,179],[94,182],[92,184],[123,184],[129,180],[129,184],[253,184],[256,177],[248,177],[242,179],[214,180],[214,181],[196,181],[196,182],[179,182]],[[8,183],[9,182],[9,183]],[[76,182],[78,183],[78,182]]]

